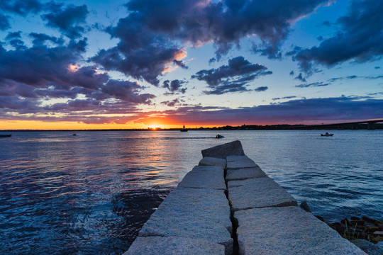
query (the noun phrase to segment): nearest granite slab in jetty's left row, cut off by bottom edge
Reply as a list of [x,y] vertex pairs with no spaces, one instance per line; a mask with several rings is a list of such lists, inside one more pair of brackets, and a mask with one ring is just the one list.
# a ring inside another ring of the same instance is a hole
[[123,255],[223,255],[225,246],[185,237],[138,237]]

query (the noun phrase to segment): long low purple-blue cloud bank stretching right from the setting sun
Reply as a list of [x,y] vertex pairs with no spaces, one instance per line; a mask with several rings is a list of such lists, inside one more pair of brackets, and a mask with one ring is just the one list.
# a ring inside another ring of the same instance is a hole
[[[383,100],[354,96],[302,98],[243,108],[180,107],[164,115],[172,123],[199,125],[301,124],[381,118]],[[148,117],[147,121],[150,120]]]

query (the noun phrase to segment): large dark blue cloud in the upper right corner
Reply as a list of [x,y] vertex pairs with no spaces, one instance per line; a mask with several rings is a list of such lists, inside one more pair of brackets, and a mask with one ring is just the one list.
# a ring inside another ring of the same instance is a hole
[[301,49],[294,56],[301,69],[310,74],[316,64],[333,67],[348,60],[367,62],[383,54],[383,2],[354,0],[348,13],[338,18],[340,29],[319,46]]

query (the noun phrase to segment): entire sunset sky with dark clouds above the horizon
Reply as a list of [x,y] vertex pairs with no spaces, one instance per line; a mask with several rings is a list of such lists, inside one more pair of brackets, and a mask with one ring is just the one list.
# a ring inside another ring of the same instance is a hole
[[0,0],[0,130],[383,118],[383,1]]

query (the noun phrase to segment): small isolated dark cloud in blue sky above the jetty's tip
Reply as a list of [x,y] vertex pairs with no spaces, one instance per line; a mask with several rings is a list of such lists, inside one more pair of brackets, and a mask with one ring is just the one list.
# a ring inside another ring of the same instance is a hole
[[267,67],[262,64],[251,64],[240,56],[228,60],[228,65],[196,72],[191,78],[206,81],[212,90],[204,91],[205,94],[224,94],[248,91],[246,86],[250,81],[262,75],[272,74],[272,72],[266,70]]

